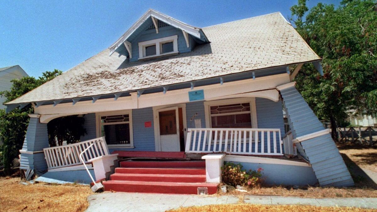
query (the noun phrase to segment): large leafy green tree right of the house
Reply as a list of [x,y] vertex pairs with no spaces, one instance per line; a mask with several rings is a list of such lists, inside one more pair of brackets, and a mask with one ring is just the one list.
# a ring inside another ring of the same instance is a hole
[[324,76],[304,65],[297,89],[323,120],[332,137],[347,111],[377,111],[377,4],[374,0],[344,0],[338,8],[318,3],[308,11],[305,0],[291,7],[297,32],[322,57]]

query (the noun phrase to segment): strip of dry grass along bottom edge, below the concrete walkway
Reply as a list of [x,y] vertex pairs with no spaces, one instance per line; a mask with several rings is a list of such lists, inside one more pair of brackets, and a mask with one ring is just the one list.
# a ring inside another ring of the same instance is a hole
[[221,204],[221,205],[207,205],[207,206],[193,206],[181,207],[170,212],[198,212],[198,211],[233,211],[233,212],[248,212],[248,211],[311,211],[311,212],[338,212],[338,211],[373,211],[368,209],[359,209],[352,207],[318,207],[318,206],[303,206],[303,205],[255,205],[255,204]]

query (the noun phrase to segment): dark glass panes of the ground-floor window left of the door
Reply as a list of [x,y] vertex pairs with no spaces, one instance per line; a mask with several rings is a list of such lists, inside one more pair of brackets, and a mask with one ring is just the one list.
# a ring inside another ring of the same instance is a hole
[[121,114],[98,114],[99,128],[98,137],[105,137],[109,147],[132,147],[132,115]]

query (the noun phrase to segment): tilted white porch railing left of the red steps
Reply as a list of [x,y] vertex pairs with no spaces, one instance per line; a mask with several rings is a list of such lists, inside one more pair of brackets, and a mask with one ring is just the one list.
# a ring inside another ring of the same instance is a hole
[[[90,146],[91,144],[93,145]],[[88,150],[84,152],[86,148],[88,148]],[[44,148],[43,151],[48,169],[81,164],[81,152],[84,152],[83,160],[85,163],[92,158],[109,155],[109,149],[107,149],[107,145],[103,137],[82,141],[75,144]]]

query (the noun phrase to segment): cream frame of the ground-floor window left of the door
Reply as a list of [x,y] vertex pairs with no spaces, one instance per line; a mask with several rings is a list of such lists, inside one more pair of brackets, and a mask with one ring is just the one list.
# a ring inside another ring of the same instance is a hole
[[[135,148],[133,146],[133,128],[132,128],[132,110],[122,110],[122,111],[110,111],[110,112],[98,112],[96,115],[96,129],[97,129],[97,138],[101,137],[101,126],[102,125],[110,125],[110,124],[130,124],[130,144],[107,144],[107,147],[109,149],[111,148]],[[123,121],[123,122],[112,122],[112,123],[101,123],[101,117],[107,116],[107,115],[128,115],[129,121]],[[106,140],[106,138],[105,138]]]

